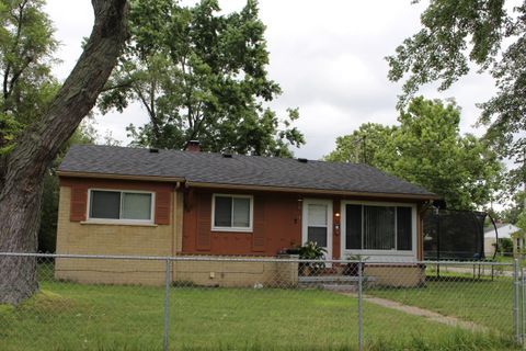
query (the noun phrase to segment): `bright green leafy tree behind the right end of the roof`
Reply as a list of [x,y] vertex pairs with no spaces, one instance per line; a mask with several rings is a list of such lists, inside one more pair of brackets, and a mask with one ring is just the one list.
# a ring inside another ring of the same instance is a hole
[[482,140],[459,134],[455,102],[416,98],[398,121],[399,126],[366,124],[340,137],[327,159],[355,161],[353,155],[363,151],[364,144],[345,141],[366,136],[370,165],[442,195],[449,207],[472,208],[491,200],[500,188],[502,165]]

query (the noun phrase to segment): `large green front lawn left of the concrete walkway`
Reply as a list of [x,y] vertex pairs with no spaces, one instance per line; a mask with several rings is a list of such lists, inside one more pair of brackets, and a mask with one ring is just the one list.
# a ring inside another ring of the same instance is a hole
[[[16,308],[0,305],[0,350],[162,349],[162,288],[53,281],[41,287]],[[173,287],[170,348],[356,350],[356,309],[354,297],[321,290]],[[514,350],[508,338],[368,303],[364,312],[367,350]]]

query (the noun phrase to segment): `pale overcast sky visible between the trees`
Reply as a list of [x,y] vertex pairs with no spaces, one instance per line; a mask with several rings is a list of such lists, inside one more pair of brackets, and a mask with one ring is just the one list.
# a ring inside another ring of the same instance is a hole
[[[185,1],[192,3],[193,1]],[[225,12],[239,11],[243,0],[220,1]],[[295,150],[298,157],[318,159],[335,147],[335,138],[350,134],[362,123],[397,123],[395,105],[400,84],[387,79],[387,55],[420,29],[420,13],[426,2],[410,0],[260,0],[261,19],[266,24],[270,77],[283,94],[271,106],[284,115],[287,107],[299,107],[296,125],[307,144]],[[73,67],[83,36],[93,24],[89,0],[48,0],[47,11],[61,46],[62,64],[55,68],[64,79]],[[462,133],[473,129],[483,102],[494,93],[493,82],[474,72],[445,93],[426,87],[426,98],[455,98],[462,107]],[[126,139],[129,123],[147,122],[146,112],[134,105],[124,113],[96,117],[101,135]]]

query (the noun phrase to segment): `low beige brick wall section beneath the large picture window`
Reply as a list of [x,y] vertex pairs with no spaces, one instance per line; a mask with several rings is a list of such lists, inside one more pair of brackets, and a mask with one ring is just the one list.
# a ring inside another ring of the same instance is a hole
[[425,282],[425,269],[421,264],[386,265],[365,263],[364,275],[374,278],[373,284],[392,287],[420,286]]

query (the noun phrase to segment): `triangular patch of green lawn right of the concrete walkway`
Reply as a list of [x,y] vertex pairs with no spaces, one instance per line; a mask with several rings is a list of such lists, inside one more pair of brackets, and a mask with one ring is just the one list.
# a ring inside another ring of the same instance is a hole
[[366,294],[418,306],[446,316],[498,330],[513,332],[513,283],[511,278],[442,272],[441,278],[427,276],[425,286],[415,288],[371,287]]

